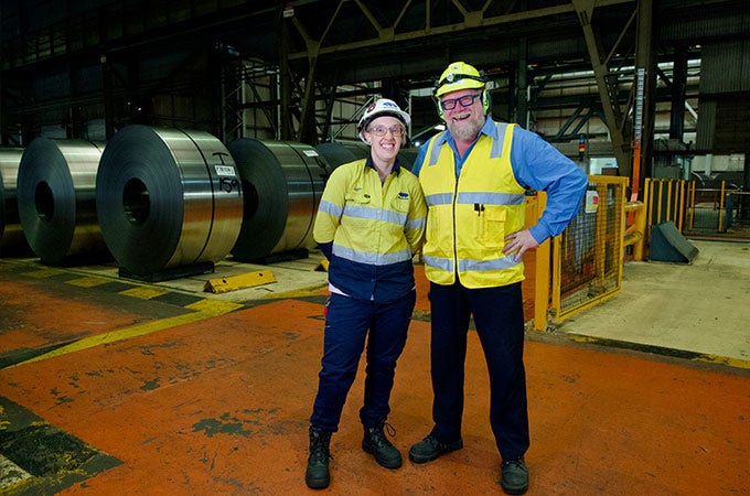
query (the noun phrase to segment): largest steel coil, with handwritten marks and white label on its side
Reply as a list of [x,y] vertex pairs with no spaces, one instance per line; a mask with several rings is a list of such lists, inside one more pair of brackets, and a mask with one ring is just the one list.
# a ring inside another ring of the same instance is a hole
[[213,269],[239,234],[242,182],[214,136],[132,125],[101,155],[96,205],[120,273],[151,278],[191,266]]

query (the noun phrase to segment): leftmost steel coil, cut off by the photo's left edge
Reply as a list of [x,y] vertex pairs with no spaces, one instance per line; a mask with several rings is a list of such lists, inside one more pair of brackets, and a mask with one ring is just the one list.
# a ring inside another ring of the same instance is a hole
[[19,165],[23,148],[0,148],[0,255],[29,254],[18,204]]

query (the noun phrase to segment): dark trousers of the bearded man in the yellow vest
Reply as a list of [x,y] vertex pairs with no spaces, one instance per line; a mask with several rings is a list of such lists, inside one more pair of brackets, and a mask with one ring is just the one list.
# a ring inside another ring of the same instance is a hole
[[521,282],[469,289],[430,283],[432,321],[432,434],[444,442],[461,436],[467,334],[473,315],[490,373],[490,424],[503,460],[528,450],[524,369],[524,311]]

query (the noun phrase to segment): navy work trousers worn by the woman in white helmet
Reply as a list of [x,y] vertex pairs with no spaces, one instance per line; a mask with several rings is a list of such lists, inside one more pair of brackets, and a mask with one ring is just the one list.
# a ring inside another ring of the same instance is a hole
[[394,385],[396,360],[404,351],[417,292],[392,303],[331,294],[325,316],[323,359],[310,423],[335,432],[349,390],[366,346],[365,397],[360,420],[365,429],[384,422]]

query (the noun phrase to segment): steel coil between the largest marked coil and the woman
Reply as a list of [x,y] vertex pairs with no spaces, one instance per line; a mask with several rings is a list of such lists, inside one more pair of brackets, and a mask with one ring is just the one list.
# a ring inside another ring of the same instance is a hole
[[302,143],[242,138],[227,144],[245,192],[243,227],[232,255],[256,261],[314,248],[312,226],[329,165]]

